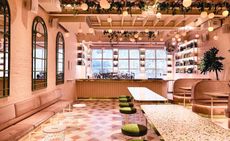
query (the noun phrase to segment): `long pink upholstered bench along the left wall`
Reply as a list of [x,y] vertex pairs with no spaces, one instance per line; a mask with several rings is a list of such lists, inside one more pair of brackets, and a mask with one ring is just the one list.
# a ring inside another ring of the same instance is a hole
[[72,103],[61,96],[58,89],[0,107],[0,141],[20,139]]

